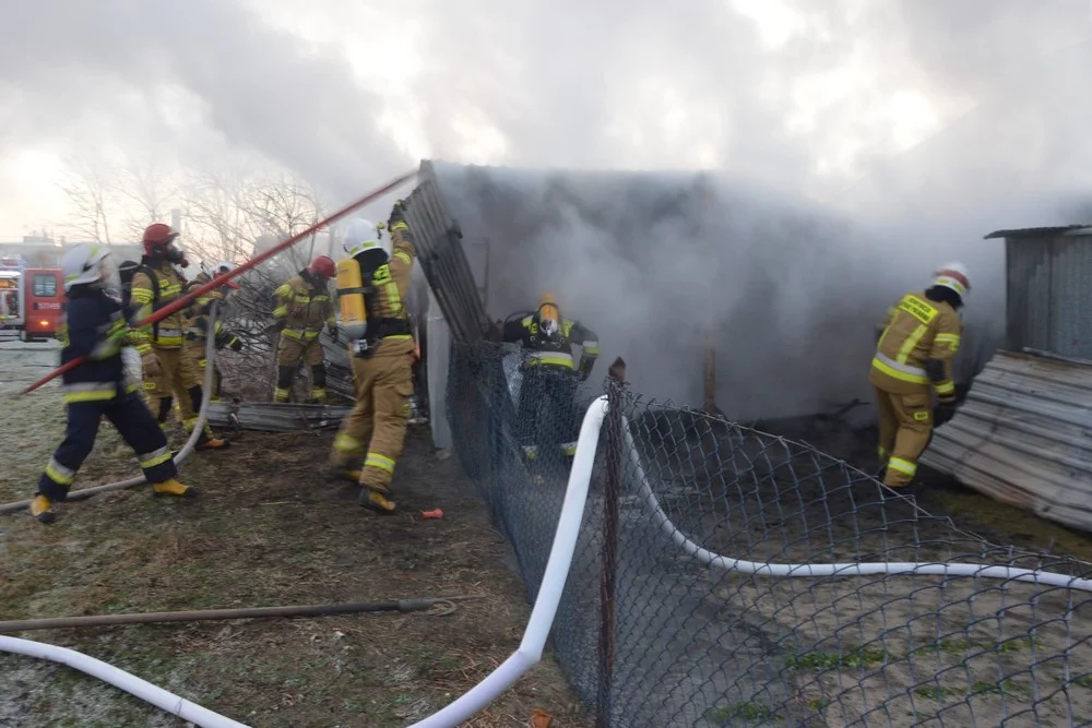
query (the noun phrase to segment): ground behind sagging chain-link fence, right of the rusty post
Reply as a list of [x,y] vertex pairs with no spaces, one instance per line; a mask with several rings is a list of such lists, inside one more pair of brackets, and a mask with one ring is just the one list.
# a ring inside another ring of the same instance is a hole
[[[785,435],[868,467],[867,431],[781,425]],[[732,429],[713,458],[700,439],[687,444],[690,452],[675,447],[676,455],[652,461],[653,489],[675,526],[715,553],[780,564],[970,563],[1092,574],[1092,564],[1049,556],[1088,553],[1085,535],[999,508],[936,473],[924,474],[917,502],[954,527],[881,499],[868,478],[784,440]],[[729,671],[761,673],[774,656],[793,695],[783,702],[737,681],[726,692],[743,699],[726,702],[722,725],[1057,726],[1092,714],[1088,592],[881,573],[786,578],[709,570],[701,581],[702,598],[725,623]],[[762,635],[765,649],[747,654],[738,634]]]

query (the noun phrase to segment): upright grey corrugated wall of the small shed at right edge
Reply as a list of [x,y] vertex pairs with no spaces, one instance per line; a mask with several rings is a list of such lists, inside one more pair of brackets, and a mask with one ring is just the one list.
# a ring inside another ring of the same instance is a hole
[[1092,236],[1006,240],[1007,347],[1092,359]]

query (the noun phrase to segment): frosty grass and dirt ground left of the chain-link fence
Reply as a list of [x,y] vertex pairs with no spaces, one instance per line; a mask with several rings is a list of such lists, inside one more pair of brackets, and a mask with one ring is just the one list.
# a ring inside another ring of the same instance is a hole
[[[0,500],[27,498],[61,437],[57,391],[19,399],[20,381],[56,351],[2,351]],[[7,361],[7,363],[4,363]],[[45,367],[45,368],[43,368]],[[322,463],[332,433],[248,432],[228,452],[194,455],[197,501],[146,489],[61,506],[52,527],[0,516],[0,617],[468,597],[448,616],[133,625],[15,634],[79,649],[252,726],[405,726],[480,681],[519,645],[529,616],[511,549],[455,457],[414,432],[400,465],[401,514],[373,516]],[[131,475],[112,429],[81,484]],[[423,510],[442,509],[442,520]],[[142,701],[51,663],[0,656],[0,726],[181,726]],[[547,655],[467,725],[587,726]]]

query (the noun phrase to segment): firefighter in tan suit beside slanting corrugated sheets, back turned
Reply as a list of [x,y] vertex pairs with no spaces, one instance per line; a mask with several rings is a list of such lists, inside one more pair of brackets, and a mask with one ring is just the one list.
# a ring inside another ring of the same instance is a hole
[[[913,481],[933,428],[956,414],[952,359],[963,326],[959,310],[970,290],[963,264],[948,263],[927,290],[906,294],[890,308],[881,324],[868,381],[879,405],[877,452],[886,486]],[[936,413],[930,390],[937,394]]]

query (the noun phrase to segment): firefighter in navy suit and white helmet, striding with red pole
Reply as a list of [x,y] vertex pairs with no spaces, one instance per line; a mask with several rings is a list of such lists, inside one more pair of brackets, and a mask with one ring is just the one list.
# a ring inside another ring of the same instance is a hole
[[85,356],[87,361],[66,372],[61,386],[68,425],[64,440],[54,452],[31,501],[31,513],[41,523],[52,523],[52,504],[64,501],[76,472],[91,454],[98,423],[106,417],[136,453],[153,496],[192,498],[195,488],[177,480],[170,449],[155,418],[128,384],[121,348],[132,334],[127,310],[105,288],[114,270],[105,247],[79,243],[64,253],[61,271],[68,307],[57,337],[61,363]]

